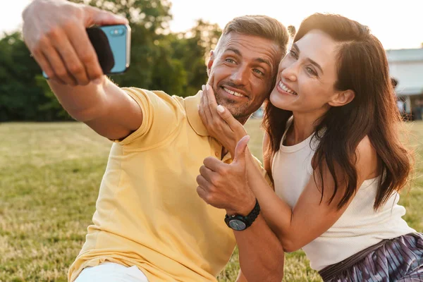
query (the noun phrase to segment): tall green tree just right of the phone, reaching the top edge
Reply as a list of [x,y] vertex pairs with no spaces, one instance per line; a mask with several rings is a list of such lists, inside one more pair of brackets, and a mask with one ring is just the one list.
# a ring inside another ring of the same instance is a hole
[[124,75],[111,76],[116,84],[182,94],[186,84],[183,64],[173,59],[168,35],[164,35],[172,18],[169,1],[90,0],[85,3],[125,16],[130,21],[130,68]]

